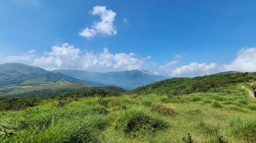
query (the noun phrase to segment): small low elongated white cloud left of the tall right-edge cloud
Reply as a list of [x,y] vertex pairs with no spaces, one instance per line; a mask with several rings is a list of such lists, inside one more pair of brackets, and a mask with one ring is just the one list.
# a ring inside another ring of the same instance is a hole
[[184,65],[181,67],[177,67],[175,70],[172,70],[171,74],[169,76],[187,76],[187,77],[193,77],[193,76],[204,76],[209,75],[212,73],[215,73],[214,70],[217,67],[217,63],[191,63],[189,65]]

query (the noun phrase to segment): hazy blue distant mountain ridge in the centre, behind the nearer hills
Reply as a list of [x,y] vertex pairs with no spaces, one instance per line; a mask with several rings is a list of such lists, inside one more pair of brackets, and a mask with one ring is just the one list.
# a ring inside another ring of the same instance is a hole
[[125,89],[133,89],[156,81],[168,79],[164,76],[158,76],[147,70],[125,70],[118,72],[89,72],[86,70],[54,70],[67,76],[85,81],[95,81],[103,84],[113,84]]

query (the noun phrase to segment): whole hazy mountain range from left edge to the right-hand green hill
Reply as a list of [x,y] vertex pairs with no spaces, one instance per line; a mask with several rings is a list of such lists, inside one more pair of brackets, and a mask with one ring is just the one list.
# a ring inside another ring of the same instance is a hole
[[86,70],[48,71],[20,63],[0,64],[0,87],[7,85],[38,85],[55,81],[87,84],[91,87],[117,86],[131,90],[156,81],[168,79],[146,70],[98,73]]

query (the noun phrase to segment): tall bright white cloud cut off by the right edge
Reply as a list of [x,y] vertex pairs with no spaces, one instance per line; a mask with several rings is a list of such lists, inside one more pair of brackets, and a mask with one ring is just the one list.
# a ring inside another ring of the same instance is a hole
[[224,64],[225,70],[256,72],[256,48],[242,48],[230,64]]

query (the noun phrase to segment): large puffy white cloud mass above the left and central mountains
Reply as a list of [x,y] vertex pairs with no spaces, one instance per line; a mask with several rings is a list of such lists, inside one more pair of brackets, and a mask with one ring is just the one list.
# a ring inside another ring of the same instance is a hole
[[33,65],[45,69],[90,69],[90,68],[114,68],[135,70],[140,69],[146,58],[136,58],[135,53],[115,53],[112,54],[108,48],[104,48],[101,53],[83,53],[74,45],[64,43],[61,46],[53,46],[51,52],[45,52],[45,56],[36,58]]

